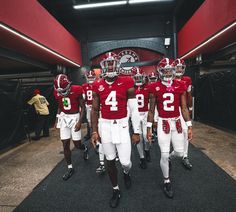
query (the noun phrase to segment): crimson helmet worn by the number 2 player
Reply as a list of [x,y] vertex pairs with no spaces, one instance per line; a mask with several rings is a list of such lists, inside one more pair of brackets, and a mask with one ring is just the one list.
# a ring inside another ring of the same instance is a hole
[[173,60],[169,58],[163,58],[158,64],[158,73],[161,81],[169,82],[175,78],[175,67],[173,66]]

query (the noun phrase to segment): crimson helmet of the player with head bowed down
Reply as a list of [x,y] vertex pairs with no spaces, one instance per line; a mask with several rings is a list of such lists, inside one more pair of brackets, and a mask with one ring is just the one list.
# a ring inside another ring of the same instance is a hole
[[59,74],[54,79],[54,89],[61,96],[67,96],[70,92],[71,82],[65,74]]

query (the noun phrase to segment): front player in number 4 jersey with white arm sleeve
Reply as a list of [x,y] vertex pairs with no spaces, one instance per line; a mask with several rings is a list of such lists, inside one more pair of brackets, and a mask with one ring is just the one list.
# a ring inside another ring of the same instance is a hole
[[[92,105],[92,143],[99,140],[103,145],[107,159],[107,171],[113,187],[113,195],[109,201],[112,208],[117,207],[120,189],[115,164],[116,152],[123,168],[125,187],[131,187],[130,169],[131,141],[127,117],[127,105],[131,114],[134,134],[133,143],[139,142],[140,117],[135,98],[134,81],[130,77],[119,77],[120,61],[116,54],[108,52],[100,62],[103,79],[93,87]],[[99,118],[99,111],[101,116]]]

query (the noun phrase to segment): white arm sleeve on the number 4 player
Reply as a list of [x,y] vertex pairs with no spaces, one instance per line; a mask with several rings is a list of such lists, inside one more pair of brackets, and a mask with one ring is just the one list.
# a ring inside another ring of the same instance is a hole
[[131,115],[134,133],[140,134],[140,115],[136,98],[128,99],[128,108]]

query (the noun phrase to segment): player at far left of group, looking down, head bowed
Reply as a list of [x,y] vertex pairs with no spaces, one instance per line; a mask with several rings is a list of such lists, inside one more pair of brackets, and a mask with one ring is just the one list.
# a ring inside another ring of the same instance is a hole
[[60,138],[63,143],[64,157],[68,166],[63,180],[68,180],[74,173],[71,162],[70,139],[76,148],[83,151],[84,160],[88,160],[88,148],[81,143],[81,123],[85,111],[83,89],[71,85],[65,74],[59,74],[54,80],[54,96],[58,102],[56,127],[60,128]]

